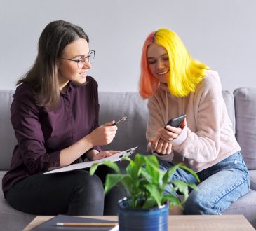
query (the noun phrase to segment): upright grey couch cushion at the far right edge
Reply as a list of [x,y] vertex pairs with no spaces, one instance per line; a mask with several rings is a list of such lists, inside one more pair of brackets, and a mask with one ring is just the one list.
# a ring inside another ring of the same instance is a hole
[[256,169],[256,89],[234,90],[236,139],[248,169]]

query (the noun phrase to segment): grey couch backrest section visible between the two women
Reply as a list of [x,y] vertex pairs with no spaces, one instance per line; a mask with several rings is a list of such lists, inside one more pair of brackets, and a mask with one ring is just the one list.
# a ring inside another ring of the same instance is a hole
[[142,100],[137,92],[99,92],[100,124],[127,120],[118,125],[114,141],[105,146],[105,150],[126,150],[139,146],[137,152],[145,152],[147,147],[147,101]]

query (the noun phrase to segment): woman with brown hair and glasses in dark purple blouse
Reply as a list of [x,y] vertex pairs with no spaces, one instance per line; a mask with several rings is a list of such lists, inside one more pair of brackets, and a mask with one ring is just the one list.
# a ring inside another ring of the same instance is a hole
[[117,153],[100,148],[113,141],[117,127],[114,120],[98,125],[97,82],[88,76],[95,51],[88,43],[81,27],[50,22],[32,69],[18,80],[11,104],[18,144],[3,179],[4,195],[15,209],[40,215],[116,214],[113,200],[123,195],[113,190],[104,197],[107,169],[93,176],[83,169],[43,174]]

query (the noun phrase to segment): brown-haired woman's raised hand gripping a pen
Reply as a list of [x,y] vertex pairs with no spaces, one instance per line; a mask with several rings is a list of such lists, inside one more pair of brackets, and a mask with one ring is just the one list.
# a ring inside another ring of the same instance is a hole
[[100,125],[93,132],[90,132],[85,138],[92,146],[102,146],[110,144],[116,136],[117,126],[113,126],[114,120],[104,125]]

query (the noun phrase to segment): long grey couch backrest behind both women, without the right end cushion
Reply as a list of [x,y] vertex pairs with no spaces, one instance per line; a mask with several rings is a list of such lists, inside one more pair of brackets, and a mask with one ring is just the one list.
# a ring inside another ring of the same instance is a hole
[[[13,148],[16,144],[10,122],[13,93],[13,90],[0,90],[0,170],[7,170],[10,167]],[[229,91],[223,91],[222,94],[229,116],[235,125],[233,94]],[[139,146],[137,152],[144,152],[147,146],[145,139],[147,101],[142,100],[137,92],[99,92],[99,101],[100,124],[110,120],[119,120],[123,116],[128,117],[127,121],[118,126],[119,130],[114,141],[109,146],[105,146],[105,149],[122,151]]]

